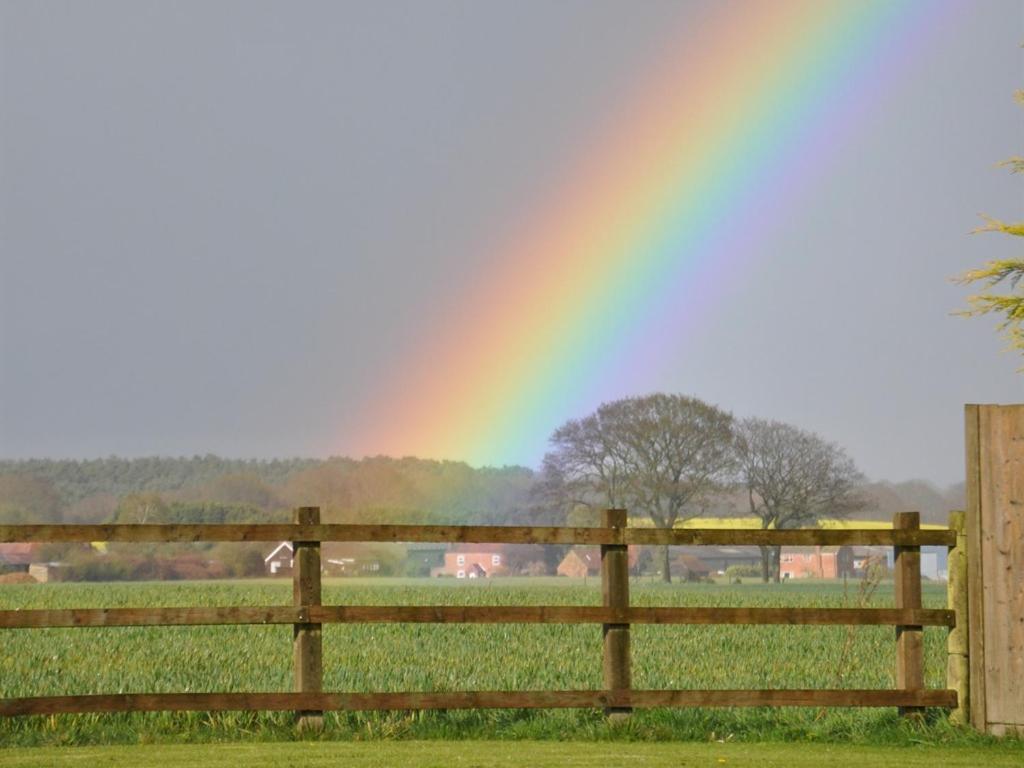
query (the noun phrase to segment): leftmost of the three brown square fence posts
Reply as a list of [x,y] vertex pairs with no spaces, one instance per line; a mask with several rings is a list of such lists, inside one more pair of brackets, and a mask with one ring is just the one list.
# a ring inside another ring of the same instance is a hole
[[[319,507],[300,507],[293,513],[299,525],[318,525]],[[293,542],[293,604],[308,608],[321,604],[319,542]],[[324,640],[322,625],[296,624],[293,629],[295,653],[295,692],[321,693],[324,690]],[[324,727],[323,712],[297,712],[299,730]]]

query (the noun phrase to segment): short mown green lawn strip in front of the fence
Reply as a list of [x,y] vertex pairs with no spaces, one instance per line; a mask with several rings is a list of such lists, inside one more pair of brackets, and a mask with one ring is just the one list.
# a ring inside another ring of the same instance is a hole
[[140,746],[40,748],[0,751],[6,768],[35,766],[337,766],[400,765],[402,768],[592,768],[595,765],[683,768],[692,766],[778,766],[819,768],[986,768],[1024,764],[1024,742],[978,746],[846,746],[809,743],[588,743],[550,741],[365,741],[262,744],[162,744]]

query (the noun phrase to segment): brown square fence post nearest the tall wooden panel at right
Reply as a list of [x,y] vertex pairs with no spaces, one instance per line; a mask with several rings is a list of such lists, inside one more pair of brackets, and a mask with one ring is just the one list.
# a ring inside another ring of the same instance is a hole
[[[897,512],[893,518],[896,530],[916,530],[921,527],[918,512]],[[896,551],[896,607],[921,609],[921,547],[894,547]],[[925,644],[922,627],[896,627],[896,687],[901,690],[922,690],[925,687]],[[900,707],[900,715],[924,712],[922,707]]]

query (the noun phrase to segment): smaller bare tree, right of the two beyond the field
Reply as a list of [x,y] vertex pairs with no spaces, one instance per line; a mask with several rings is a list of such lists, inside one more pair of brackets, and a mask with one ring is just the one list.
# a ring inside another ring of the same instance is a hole
[[[839,445],[764,419],[745,419],[735,431],[741,482],[762,528],[811,525],[867,506],[857,490],[863,476]],[[779,571],[779,548],[761,547],[763,580],[778,582]]]

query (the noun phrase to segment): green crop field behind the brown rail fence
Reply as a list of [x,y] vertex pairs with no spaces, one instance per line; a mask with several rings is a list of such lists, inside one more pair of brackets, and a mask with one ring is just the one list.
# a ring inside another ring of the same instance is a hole
[[[857,583],[662,585],[635,582],[634,605],[821,606],[860,604]],[[0,607],[282,605],[288,581],[0,586]],[[325,604],[600,603],[599,585],[565,579],[328,581]],[[892,605],[883,584],[869,603]],[[925,606],[945,604],[925,585]],[[0,695],[172,691],[287,691],[291,627],[3,630]],[[665,627],[633,629],[638,688],[883,688],[894,684],[891,627]],[[943,629],[926,629],[926,679],[945,685]],[[598,625],[330,625],[325,689],[426,691],[601,687]],[[80,715],[0,721],[0,742],[220,738],[285,734],[289,713]],[[895,710],[705,710],[638,713],[637,738],[851,737],[900,729]],[[355,737],[581,737],[607,726],[594,711],[349,713],[328,734]],[[205,734],[205,735],[204,735]]]

